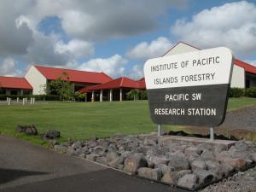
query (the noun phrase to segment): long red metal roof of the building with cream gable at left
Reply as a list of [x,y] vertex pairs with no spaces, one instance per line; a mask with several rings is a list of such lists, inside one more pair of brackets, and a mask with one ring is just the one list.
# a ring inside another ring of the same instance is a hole
[[58,79],[63,72],[67,73],[69,80],[72,82],[103,84],[112,80],[112,78],[110,78],[105,73],[85,72],[85,71],[78,71],[78,70],[65,69],[65,68],[55,68],[55,67],[43,67],[43,66],[34,66],[34,67],[36,67],[38,71],[42,73],[46,79],[49,79],[49,80]]

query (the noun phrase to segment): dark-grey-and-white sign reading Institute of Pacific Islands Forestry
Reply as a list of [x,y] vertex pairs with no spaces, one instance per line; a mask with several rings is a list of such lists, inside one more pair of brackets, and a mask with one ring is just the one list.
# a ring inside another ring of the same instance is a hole
[[225,118],[232,67],[224,47],[146,61],[151,119],[157,125],[208,126],[213,139],[213,127]]

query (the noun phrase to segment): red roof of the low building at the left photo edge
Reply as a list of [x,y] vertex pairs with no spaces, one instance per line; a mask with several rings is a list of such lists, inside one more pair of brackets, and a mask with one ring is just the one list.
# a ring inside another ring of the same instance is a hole
[[25,78],[0,76],[0,88],[32,90],[32,85]]

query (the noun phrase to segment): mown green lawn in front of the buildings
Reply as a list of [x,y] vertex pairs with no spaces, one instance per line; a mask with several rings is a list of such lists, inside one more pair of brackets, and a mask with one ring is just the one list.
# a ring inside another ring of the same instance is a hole
[[[256,99],[234,98],[229,110],[256,106]],[[0,132],[40,143],[37,137],[15,134],[16,125],[37,126],[39,133],[48,129],[61,131],[63,140],[109,137],[116,133],[137,134],[156,131],[149,117],[148,102],[49,102],[34,106],[0,106]],[[166,126],[178,130],[181,126]],[[44,143],[43,143],[44,144]]]

